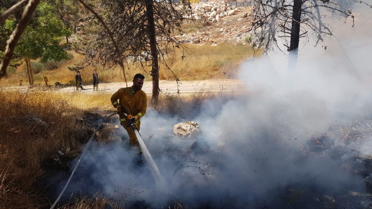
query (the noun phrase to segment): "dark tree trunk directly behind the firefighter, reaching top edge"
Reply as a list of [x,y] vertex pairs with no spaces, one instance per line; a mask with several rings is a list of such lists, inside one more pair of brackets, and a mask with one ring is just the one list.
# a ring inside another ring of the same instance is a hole
[[152,69],[151,76],[153,77],[153,102],[157,103],[159,97],[159,62],[158,62],[158,53],[157,53],[157,44],[155,37],[155,22],[154,22],[154,10],[153,10],[153,1],[146,0],[146,15],[148,21],[148,30],[150,38],[150,50],[152,59]]

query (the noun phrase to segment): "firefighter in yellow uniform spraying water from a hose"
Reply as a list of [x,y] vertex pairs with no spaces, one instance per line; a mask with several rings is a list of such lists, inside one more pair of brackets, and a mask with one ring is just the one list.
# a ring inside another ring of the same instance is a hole
[[[145,115],[147,109],[147,96],[146,93],[141,90],[144,79],[145,77],[141,74],[134,75],[133,86],[121,88],[111,97],[112,105],[118,109],[120,123],[128,132],[129,144],[137,148],[140,148],[137,136],[133,128],[130,126],[127,127],[127,125],[129,125],[129,120],[134,118],[136,129],[138,132],[140,131],[140,119]],[[122,113],[126,113],[128,116]]]

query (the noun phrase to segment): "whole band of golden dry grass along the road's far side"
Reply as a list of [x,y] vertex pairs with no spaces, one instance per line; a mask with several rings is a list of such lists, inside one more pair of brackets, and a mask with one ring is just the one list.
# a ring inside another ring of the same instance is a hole
[[[241,61],[253,56],[253,49],[248,45],[232,45],[226,43],[217,46],[186,46],[189,50],[182,52],[177,49],[174,54],[168,54],[166,59],[170,69],[180,80],[232,78],[237,73]],[[73,51],[70,51],[70,53],[73,54],[73,58],[61,65],[60,68],[50,71],[41,71],[35,74],[34,84],[44,85],[43,76],[48,77],[49,85],[53,85],[57,81],[62,84],[74,84],[74,76],[76,73],[69,70],[67,66],[82,65],[84,56],[74,53]],[[182,56],[185,56],[183,60],[181,58]],[[99,80],[101,83],[124,81],[124,75],[119,67],[107,70],[103,69],[102,66],[88,66],[80,70],[84,84],[93,83],[93,70],[97,70],[97,73],[99,73]],[[141,69],[139,63],[130,62],[128,69],[126,69],[127,79],[130,81],[136,73],[142,73],[145,75],[146,80],[151,81],[151,76],[147,73],[150,72],[150,70],[150,67]],[[167,70],[164,65],[160,65],[159,77],[161,80],[174,80],[174,75],[170,70]],[[22,82],[20,80],[22,80]],[[9,73],[6,78],[2,78],[0,87],[19,86],[20,83],[22,83],[23,86],[28,85],[27,75],[22,66],[18,67],[14,73]]]

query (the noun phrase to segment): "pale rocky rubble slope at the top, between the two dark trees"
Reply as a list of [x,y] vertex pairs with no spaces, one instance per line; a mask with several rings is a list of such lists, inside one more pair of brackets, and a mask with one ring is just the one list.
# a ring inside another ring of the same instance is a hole
[[235,7],[223,0],[193,4],[192,13],[187,18],[200,21],[203,26],[194,28],[192,33],[183,33],[177,38],[188,44],[217,45],[221,42],[248,44],[251,42],[247,32],[253,20],[252,13],[253,7]]

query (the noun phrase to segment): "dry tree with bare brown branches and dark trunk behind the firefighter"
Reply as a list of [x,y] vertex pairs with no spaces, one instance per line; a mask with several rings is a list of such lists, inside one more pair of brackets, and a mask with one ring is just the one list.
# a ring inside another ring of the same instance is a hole
[[[166,65],[164,55],[175,47],[183,48],[174,32],[181,31],[181,23],[185,13],[189,12],[189,4],[157,0],[113,0],[102,2],[94,10],[103,17],[113,34],[120,55],[110,40],[110,32],[103,27],[96,31],[92,31],[94,27],[86,27],[88,29],[84,32],[89,39],[75,47],[84,52],[88,64],[112,67],[121,65],[123,61],[138,61],[142,69],[150,64],[152,70],[146,73],[150,73],[153,78],[153,99],[156,100],[160,91],[159,62]],[[90,24],[96,22],[91,20]]]

